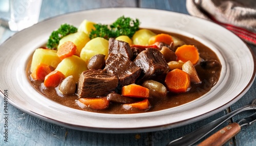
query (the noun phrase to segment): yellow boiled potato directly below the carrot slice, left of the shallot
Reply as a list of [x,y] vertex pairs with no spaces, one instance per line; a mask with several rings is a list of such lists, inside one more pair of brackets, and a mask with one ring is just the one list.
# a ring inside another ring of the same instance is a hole
[[62,72],[66,77],[73,76],[74,81],[78,82],[82,71],[87,70],[87,65],[80,57],[73,55],[63,59],[55,70]]

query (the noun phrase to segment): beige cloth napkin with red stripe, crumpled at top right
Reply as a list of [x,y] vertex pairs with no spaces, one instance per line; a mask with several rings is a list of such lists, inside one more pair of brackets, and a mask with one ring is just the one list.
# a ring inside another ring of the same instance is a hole
[[186,7],[189,14],[215,21],[256,44],[255,0],[186,0]]

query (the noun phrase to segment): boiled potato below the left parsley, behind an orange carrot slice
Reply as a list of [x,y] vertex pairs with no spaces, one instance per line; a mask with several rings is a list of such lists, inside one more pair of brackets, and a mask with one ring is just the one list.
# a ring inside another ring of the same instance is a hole
[[72,41],[76,45],[76,54],[79,55],[84,45],[86,45],[86,43],[90,41],[90,38],[84,32],[76,32],[73,34],[69,34],[59,40],[58,48],[61,44],[65,43],[66,41]]

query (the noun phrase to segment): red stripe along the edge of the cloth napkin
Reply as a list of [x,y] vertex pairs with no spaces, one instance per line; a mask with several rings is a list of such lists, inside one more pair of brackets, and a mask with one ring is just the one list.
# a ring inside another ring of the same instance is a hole
[[241,39],[243,39],[244,41],[256,45],[256,33],[250,32],[244,28],[240,28],[227,23],[220,22],[212,16],[210,17],[210,19],[212,21],[215,21],[219,25],[225,27],[226,29],[230,30],[231,32],[239,36]]

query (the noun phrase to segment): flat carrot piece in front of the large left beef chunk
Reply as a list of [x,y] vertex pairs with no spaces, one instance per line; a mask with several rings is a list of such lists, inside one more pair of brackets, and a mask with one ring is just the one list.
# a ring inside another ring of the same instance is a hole
[[105,109],[109,107],[109,100],[104,98],[81,98],[78,100],[92,109]]

